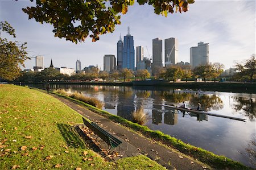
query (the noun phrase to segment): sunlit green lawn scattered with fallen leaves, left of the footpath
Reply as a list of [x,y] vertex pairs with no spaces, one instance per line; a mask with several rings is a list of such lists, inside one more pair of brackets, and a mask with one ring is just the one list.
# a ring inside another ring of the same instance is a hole
[[46,93],[0,85],[0,101],[0,169],[164,169],[144,155],[105,161],[75,131],[81,115]]

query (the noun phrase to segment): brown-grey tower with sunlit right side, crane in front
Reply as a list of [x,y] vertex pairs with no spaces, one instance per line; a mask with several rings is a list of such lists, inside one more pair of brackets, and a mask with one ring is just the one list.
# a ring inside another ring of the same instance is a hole
[[179,46],[176,38],[168,38],[164,40],[164,63],[165,67],[175,65],[179,56]]

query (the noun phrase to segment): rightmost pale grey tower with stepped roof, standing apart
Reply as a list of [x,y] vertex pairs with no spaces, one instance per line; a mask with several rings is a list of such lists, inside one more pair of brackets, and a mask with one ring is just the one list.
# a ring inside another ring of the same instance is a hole
[[209,43],[200,42],[197,47],[190,48],[190,64],[192,68],[209,63]]

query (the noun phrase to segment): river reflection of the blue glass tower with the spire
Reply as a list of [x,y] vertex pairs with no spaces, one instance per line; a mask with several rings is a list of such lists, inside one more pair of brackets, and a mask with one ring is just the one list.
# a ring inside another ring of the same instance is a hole
[[129,121],[133,120],[133,116],[131,115],[135,110],[134,107],[134,94],[132,90],[128,89],[126,91],[126,87],[123,87],[123,91],[119,90],[119,100],[117,105],[117,115],[119,117],[125,118]]

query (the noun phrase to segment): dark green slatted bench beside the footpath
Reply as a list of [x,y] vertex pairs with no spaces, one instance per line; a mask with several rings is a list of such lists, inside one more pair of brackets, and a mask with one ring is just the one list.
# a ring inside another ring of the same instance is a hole
[[96,123],[89,122],[85,118],[82,118],[82,120],[84,121],[85,126],[90,128],[90,130],[92,130],[94,134],[96,134],[98,137],[104,140],[104,142],[106,142],[108,146],[110,146],[110,150],[112,150],[112,148],[119,146],[119,144],[122,143],[119,139],[115,138],[114,136],[106,132],[100,126],[96,125]]

